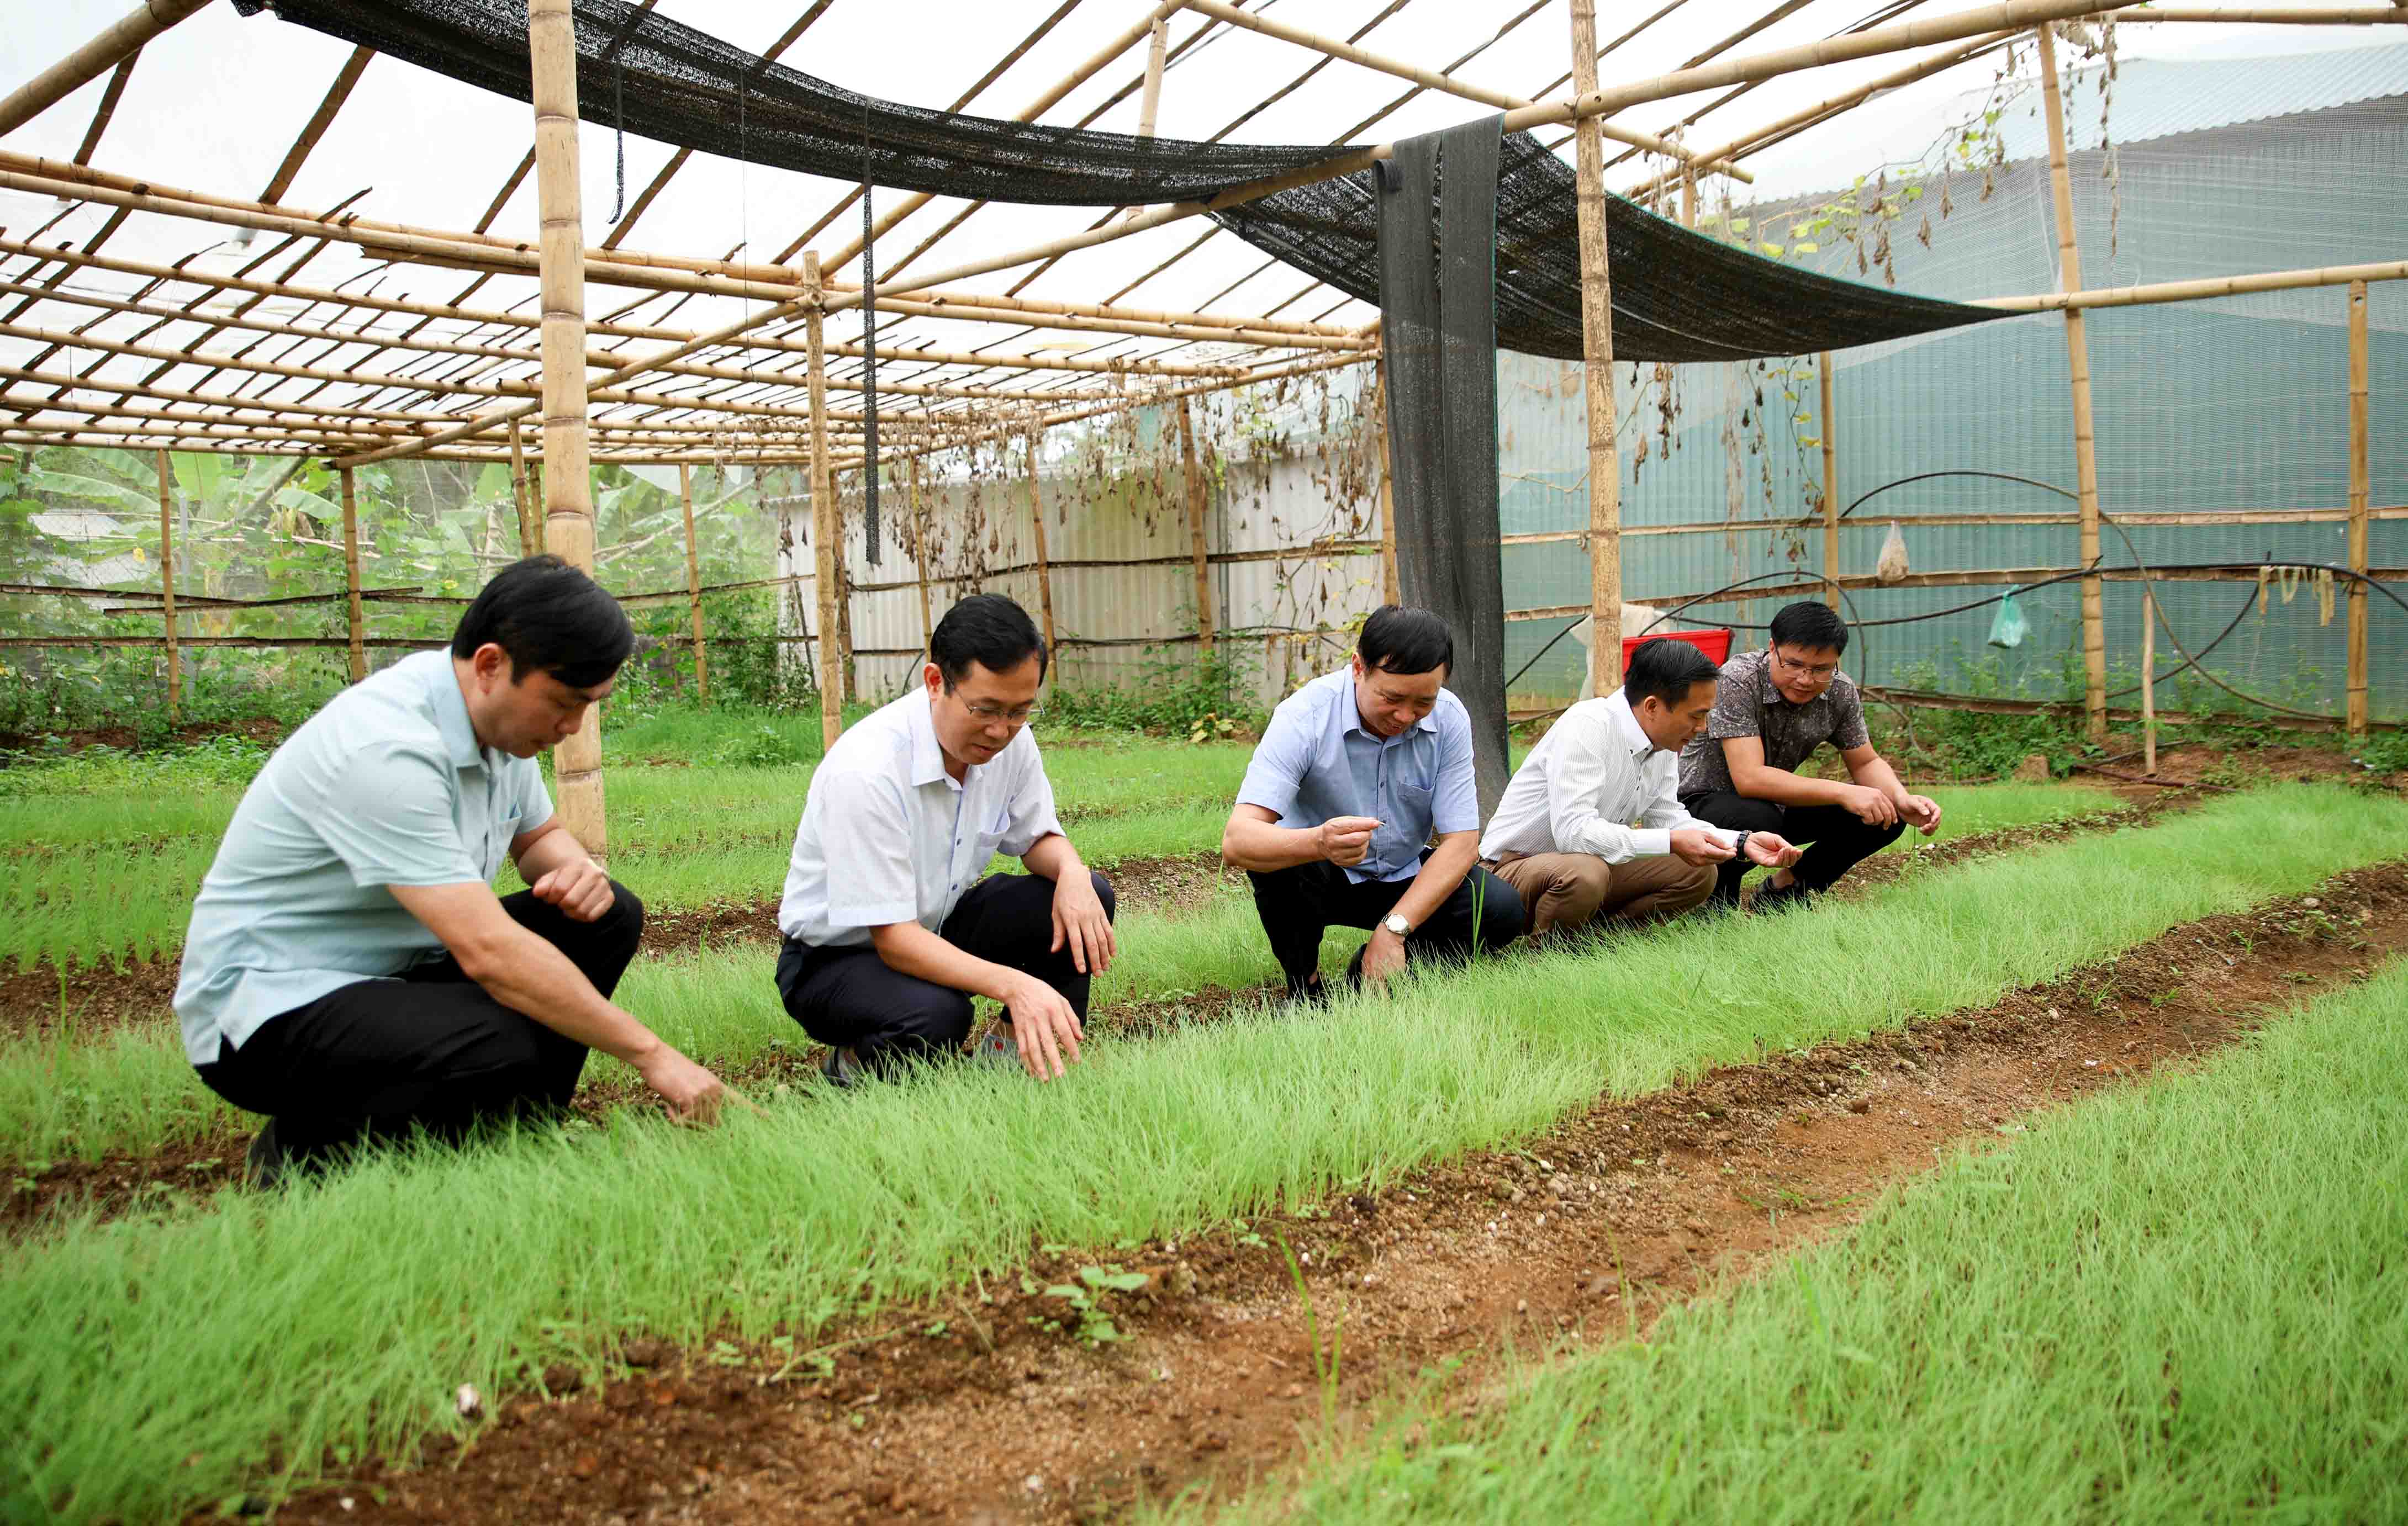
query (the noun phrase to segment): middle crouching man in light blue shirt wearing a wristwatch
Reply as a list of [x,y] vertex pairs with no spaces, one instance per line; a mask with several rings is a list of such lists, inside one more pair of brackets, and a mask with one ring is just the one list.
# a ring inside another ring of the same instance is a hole
[[[1522,898],[1479,866],[1471,717],[1445,691],[1454,635],[1382,604],[1353,662],[1271,712],[1221,833],[1247,871],[1288,996],[1322,996],[1322,931],[1373,929],[1348,980],[1469,958],[1522,936]],[[1433,845],[1435,838],[1435,845]]]

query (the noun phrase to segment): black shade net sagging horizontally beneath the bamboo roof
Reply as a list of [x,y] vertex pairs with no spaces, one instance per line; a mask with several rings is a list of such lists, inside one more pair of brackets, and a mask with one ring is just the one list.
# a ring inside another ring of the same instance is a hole
[[[520,101],[525,0],[236,0]],[[1079,207],[1202,200],[1322,164],[1334,144],[1223,144],[1040,128],[877,101],[768,63],[626,0],[576,0],[588,120],[660,142],[932,195]],[[1606,197],[1613,354],[1743,361],[1813,354],[2003,318],[1794,270]],[[1363,301],[1380,301],[1370,173],[1214,212],[1247,243]],[[1495,195],[1495,339],[1580,361],[1572,168],[1529,132],[1503,144]]]

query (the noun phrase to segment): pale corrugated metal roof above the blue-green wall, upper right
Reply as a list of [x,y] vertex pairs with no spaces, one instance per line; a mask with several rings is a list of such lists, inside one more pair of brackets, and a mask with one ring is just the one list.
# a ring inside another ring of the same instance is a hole
[[[2071,75],[2066,137],[2076,152],[2095,149],[2102,140],[2100,75],[2100,65]],[[2028,77],[2008,89],[1999,118],[2008,161],[2044,159],[2049,144],[2040,120],[2040,79]],[[1938,96],[1910,87],[1888,101],[1876,99],[1832,128],[1753,159],[1755,197],[1780,200],[1847,185],[1878,168],[1883,154],[1890,164],[1910,161],[1977,120],[1989,101],[1987,87]],[[2136,144],[2365,101],[2401,101],[2401,111],[2408,111],[2408,43],[2280,55],[2124,58],[2105,111],[2105,132],[2117,144]]]

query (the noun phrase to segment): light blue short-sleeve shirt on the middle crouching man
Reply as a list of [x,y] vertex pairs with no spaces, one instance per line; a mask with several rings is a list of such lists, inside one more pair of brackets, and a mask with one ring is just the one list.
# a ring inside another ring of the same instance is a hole
[[1238,804],[1276,811],[1286,828],[1312,828],[1332,816],[1377,816],[1370,852],[1346,869],[1346,879],[1413,879],[1430,833],[1481,826],[1471,715],[1440,688],[1421,722],[1399,737],[1380,737],[1363,724],[1353,669],[1322,674],[1271,710],[1245,765]]

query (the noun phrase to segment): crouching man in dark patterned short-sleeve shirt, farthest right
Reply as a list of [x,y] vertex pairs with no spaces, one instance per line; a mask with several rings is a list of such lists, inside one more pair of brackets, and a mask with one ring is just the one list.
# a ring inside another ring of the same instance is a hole
[[[1813,842],[1806,857],[1758,891],[1755,907],[1801,903],[1898,840],[1907,826],[1929,838],[1941,809],[1907,794],[1873,751],[1864,703],[1840,672],[1847,621],[1828,604],[1792,604],[1772,616],[1772,645],[1722,664],[1705,734],[1681,751],[1681,804],[1698,821]],[[1847,782],[1796,773],[1825,741],[1847,763]],[[1724,862],[1714,898],[1739,905],[1746,859]]]

